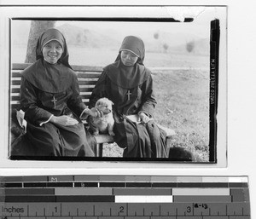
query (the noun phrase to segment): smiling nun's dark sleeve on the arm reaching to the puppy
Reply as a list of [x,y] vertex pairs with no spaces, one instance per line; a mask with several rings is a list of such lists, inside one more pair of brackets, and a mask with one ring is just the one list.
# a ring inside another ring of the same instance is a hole
[[70,99],[67,101],[67,107],[69,107],[73,112],[75,112],[78,116],[87,108],[80,96],[79,90],[79,81],[78,78],[73,75],[73,84],[72,84],[73,95],[71,95]]

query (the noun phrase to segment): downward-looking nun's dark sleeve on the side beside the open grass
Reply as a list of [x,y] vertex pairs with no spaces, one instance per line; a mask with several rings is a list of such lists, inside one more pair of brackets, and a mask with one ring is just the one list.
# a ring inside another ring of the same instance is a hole
[[148,79],[143,83],[142,90],[143,101],[139,112],[145,112],[148,116],[153,117],[156,100],[154,97],[153,78],[151,75],[149,75]]

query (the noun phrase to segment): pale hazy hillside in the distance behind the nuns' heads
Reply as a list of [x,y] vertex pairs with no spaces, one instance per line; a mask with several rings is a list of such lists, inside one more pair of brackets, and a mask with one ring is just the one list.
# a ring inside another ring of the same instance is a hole
[[[83,29],[78,26],[65,24],[56,27],[67,37],[68,45],[89,47],[89,48],[108,48],[119,49],[121,40],[124,36],[117,30],[106,29],[102,32],[96,32],[89,29]],[[112,34],[109,34],[112,33]],[[111,37],[109,37],[111,36]],[[157,32],[156,35],[147,32],[141,33],[139,37],[143,38],[146,50],[150,52],[175,52],[175,53],[193,53],[196,55],[209,54],[208,39],[200,39],[193,34],[181,34],[178,32]],[[190,47],[188,47],[190,45]],[[177,46],[174,46],[177,45]]]

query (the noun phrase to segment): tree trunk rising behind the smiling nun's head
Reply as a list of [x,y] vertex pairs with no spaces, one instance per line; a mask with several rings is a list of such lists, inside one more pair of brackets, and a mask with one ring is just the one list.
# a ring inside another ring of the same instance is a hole
[[33,63],[36,61],[36,46],[38,38],[41,34],[49,28],[55,27],[55,22],[52,20],[32,20],[30,26],[30,32],[26,49],[25,63]]

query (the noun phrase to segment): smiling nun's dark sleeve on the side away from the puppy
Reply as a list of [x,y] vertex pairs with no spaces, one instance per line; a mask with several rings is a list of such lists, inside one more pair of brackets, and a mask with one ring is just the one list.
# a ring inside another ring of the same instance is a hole
[[25,119],[32,124],[41,125],[49,121],[52,114],[37,106],[37,89],[25,78],[21,78],[20,106],[25,112]]

